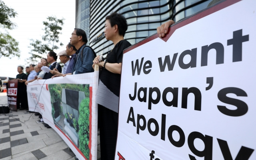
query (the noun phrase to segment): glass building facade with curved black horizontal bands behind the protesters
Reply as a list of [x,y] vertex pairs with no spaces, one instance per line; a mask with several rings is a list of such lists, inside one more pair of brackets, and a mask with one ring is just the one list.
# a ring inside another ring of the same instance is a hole
[[76,27],[89,30],[89,33],[86,32],[87,37],[89,36],[87,45],[90,45],[97,55],[106,56],[114,47],[112,41],[107,41],[104,37],[105,18],[112,12],[118,12],[126,18],[128,30],[124,39],[133,45],[156,33],[156,28],[162,23],[168,20],[177,22],[191,16],[206,8],[210,1],[76,0]]

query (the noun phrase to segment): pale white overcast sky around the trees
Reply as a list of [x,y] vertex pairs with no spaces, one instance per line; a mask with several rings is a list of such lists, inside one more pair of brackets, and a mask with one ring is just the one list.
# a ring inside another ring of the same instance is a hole
[[[75,0],[3,0],[6,6],[14,9],[18,16],[11,20],[16,23],[17,27],[13,30],[8,30],[10,35],[19,42],[20,59],[13,57],[0,58],[0,76],[9,76],[16,78],[17,67],[19,65],[29,66],[25,60],[30,57],[29,39],[42,40],[44,35],[43,21],[46,21],[48,16],[56,16],[58,19],[64,18],[64,26],[62,27],[62,35],[60,42],[64,45],[56,50],[58,53],[66,49],[66,44],[69,42],[72,31],[75,27]],[[46,57],[45,57],[46,58]],[[59,59],[57,62],[60,61]],[[25,70],[24,70],[25,72]]]

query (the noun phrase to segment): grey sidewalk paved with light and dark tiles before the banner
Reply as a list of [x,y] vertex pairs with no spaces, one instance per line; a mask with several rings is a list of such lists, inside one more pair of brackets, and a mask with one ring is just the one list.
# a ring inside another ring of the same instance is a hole
[[[0,93],[0,104],[7,104],[6,93]],[[54,129],[37,124],[37,120],[38,116],[25,110],[0,114],[0,159],[74,160],[76,156]]]

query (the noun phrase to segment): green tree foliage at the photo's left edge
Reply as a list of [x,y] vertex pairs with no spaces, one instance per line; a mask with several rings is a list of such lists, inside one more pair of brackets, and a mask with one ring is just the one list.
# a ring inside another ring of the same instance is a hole
[[0,9],[0,27],[6,32],[0,33],[0,58],[2,56],[9,58],[13,56],[20,57],[19,43],[7,31],[7,29],[16,27],[10,18],[15,18],[17,13],[6,6],[2,0],[0,0]]

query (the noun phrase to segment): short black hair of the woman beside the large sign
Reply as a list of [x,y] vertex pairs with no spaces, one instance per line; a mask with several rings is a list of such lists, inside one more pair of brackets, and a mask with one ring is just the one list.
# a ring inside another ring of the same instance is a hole
[[122,16],[122,14],[113,12],[109,16],[106,16],[106,20],[110,21],[111,27],[113,27],[114,25],[118,26],[118,31],[120,35],[125,35],[128,25],[126,19],[124,18],[124,16]]

